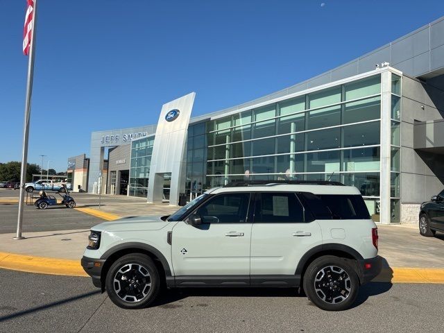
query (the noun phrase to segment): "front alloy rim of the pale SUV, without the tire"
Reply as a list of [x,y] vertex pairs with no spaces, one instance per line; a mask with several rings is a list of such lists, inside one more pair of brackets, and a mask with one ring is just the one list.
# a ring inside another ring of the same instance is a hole
[[140,302],[151,290],[151,275],[141,264],[126,264],[114,275],[114,291],[126,302]]

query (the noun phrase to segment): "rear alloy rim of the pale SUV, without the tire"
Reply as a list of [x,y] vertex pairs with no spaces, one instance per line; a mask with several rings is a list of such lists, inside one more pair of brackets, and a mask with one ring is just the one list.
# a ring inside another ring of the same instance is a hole
[[350,295],[352,281],[343,268],[339,266],[325,266],[316,273],[314,290],[324,302],[338,304]]

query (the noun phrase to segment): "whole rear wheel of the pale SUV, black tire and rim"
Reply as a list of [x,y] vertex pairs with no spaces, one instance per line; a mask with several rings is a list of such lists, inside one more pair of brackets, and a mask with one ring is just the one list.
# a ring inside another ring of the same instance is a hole
[[359,279],[348,259],[325,255],[304,274],[303,288],[311,302],[326,311],[349,309],[359,292]]

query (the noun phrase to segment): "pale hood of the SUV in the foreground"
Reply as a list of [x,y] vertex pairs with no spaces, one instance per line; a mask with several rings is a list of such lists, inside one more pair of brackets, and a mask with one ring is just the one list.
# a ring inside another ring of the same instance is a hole
[[161,216],[130,216],[111,222],[94,225],[91,230],[96,231],[139,231],[139,230],[160,230],[164,228],[168,221],[162,221]]

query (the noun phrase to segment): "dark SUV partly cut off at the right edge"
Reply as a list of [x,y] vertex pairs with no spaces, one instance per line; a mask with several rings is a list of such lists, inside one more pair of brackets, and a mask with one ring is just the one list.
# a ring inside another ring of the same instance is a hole
[[430,201],[422,203],[419,213],[419,232],[432,237],[436,231],[444,232],[444,190]]

